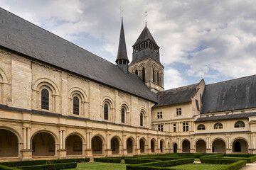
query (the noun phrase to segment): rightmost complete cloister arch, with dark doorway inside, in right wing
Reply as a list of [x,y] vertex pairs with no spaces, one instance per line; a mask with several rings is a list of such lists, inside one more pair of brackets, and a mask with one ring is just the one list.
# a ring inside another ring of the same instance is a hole
[[248,153],[248,142],[245,140],[245,138],[237,137],[232,142],[232,150],[235,153],[242,153],[247,154]]

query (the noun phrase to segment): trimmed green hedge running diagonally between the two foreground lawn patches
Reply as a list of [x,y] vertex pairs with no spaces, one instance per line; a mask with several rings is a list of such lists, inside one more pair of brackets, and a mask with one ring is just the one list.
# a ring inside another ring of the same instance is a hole
[[[189,164],[193,162],[194,162],[193,158],[176,159],[176,160],[164,161],[164,162],[151,162],[146,164],[127,165],[127,170],[155,170],[155,169],[167,170],[167,169],[170,169],[169,166]],[[168,168],[164,168],[167,166]]]

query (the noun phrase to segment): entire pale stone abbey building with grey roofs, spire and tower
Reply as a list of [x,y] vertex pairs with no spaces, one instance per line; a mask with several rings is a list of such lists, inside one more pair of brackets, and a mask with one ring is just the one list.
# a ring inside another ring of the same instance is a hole
[[0,161],[256,153],[256,76],[164,90],[145,26],[116,64],[0,8]]

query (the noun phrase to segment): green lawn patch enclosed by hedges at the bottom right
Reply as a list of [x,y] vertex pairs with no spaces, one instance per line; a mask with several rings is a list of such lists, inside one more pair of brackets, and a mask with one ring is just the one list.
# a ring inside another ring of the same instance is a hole
[[220,167],[226,166],[225,164],[183,164],[177,166],[171,166],[170,168],[175,169],[189,169],[189,170],[214,170]]

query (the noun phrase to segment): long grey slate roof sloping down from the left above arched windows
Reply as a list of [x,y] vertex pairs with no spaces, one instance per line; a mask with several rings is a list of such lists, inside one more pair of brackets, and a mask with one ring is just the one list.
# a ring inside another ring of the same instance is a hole
[[0,46],[69,72],[157,101],[144,82],[115,64],[0,8]]

